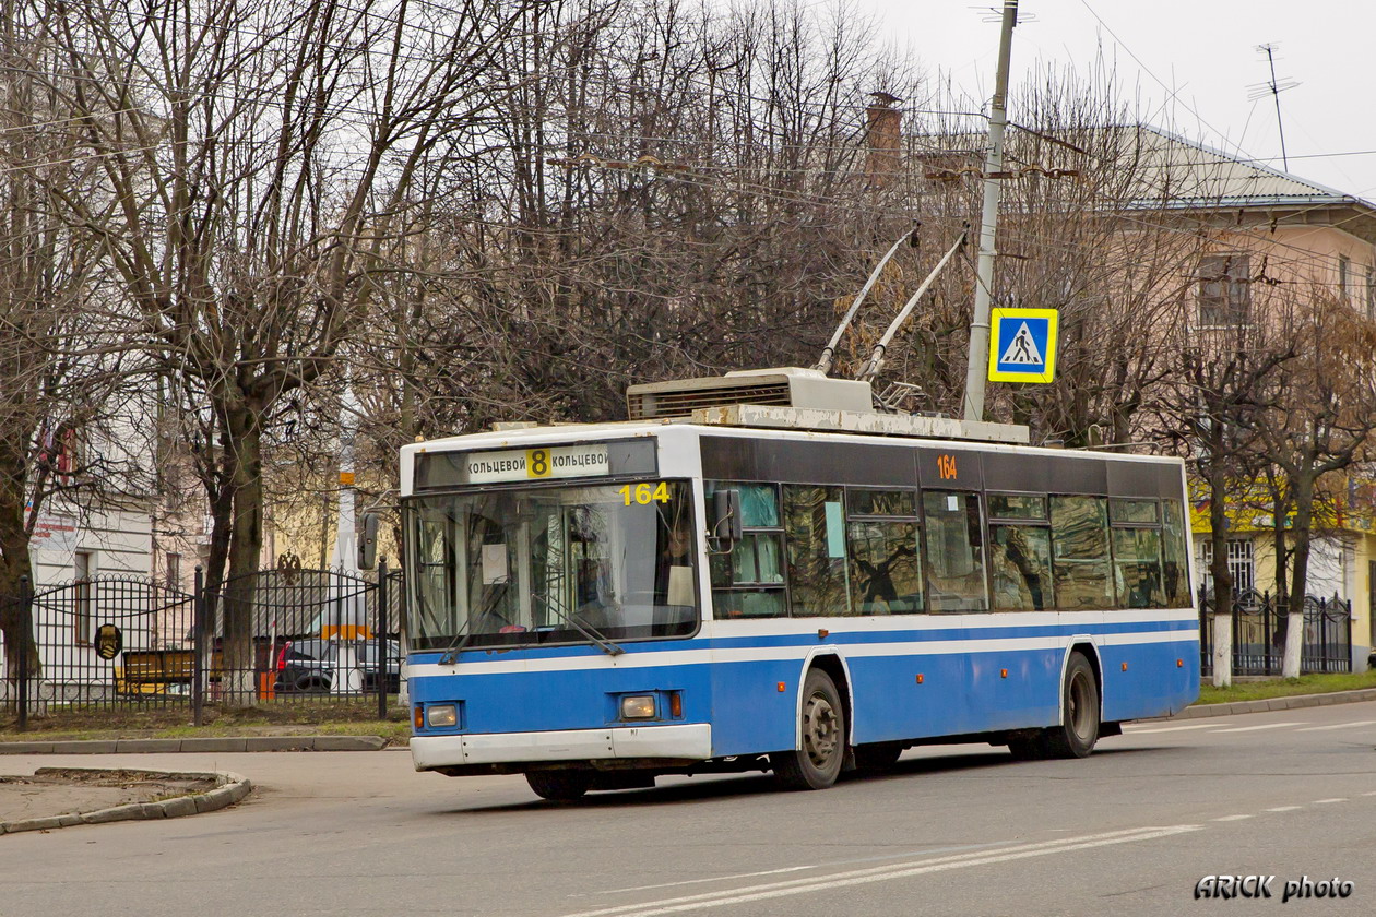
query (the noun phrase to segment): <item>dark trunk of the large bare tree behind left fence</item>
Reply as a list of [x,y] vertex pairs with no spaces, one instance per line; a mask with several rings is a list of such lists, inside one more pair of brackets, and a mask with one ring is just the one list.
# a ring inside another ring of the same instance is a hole
[[224,663],[222,685],[226,707],[257,703],[253,648],[253,604],[259,555],[263,550],[263,429],[261,410],[250,399],[224,411],[233,527],[228,573],[223,588]]

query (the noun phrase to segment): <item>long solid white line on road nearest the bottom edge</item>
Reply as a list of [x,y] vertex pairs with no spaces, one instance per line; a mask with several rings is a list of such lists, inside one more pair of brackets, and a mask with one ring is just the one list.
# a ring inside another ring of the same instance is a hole
[[926,862],[894,863],[892,866],[878,866],[874,869],[856,869],[845,873],[832,873],[810,879],[794,879],[782,883],[768,883],[764,885],[736,888],[731,891],[707,892],[702,895],[687,895],[684,898],[667,898],[663,901],[643,902],[638,905],[623,905],[621,907],[605,907],[603,910],[588,910],[567,917],[656,917],[658,914],[671,914],[684,910],[698,910],[702,907],[722,907],[727,905],[742,905],[751,901],[768,898],[784,898],[788,895],[804,895],[816,891],[831,891],[846,885],[863,885],[892,879],[907,879],[925,873],[943,872],[947,869],[960,869],[965,866],[982,866],[987,863],[1002,863],[1029,857],[1046,857],[1049,854],[1062,854],[1093,847],[1108,847],[1110,844],[1127,844],[1139,840],[1154,840],[1170,837],[1186,832],[1200,830],[1200,825],[1172,825],[1170,828],[1132,828],[1127,830],[1109,832],[1105,835],[1087,835],[1084,837],[1065,837],[1061,840],[1042,841],[1035,844],[1021,844],[999,852],[989,854],[959,854],[955,857],[938,857]]

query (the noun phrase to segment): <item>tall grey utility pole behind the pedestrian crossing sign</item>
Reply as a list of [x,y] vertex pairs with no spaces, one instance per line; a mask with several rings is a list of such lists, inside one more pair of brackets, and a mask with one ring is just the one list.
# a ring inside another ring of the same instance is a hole
[[970,356],[965,373],[966,421],[984,419],[984,379],[989,374],[989,302],[993,289],[993,234],[999,221],[1003,172],[1003,129],[1009,122],[1009,55],[1013,51],[1013,26],[1018,23],[1018,0],[1003,0],[1003,29],[999,34],[999,69],[989,100],[989,151],[984,158],[984,209],[980,213],[980,260],[976,265],[974,318],[970,320]]

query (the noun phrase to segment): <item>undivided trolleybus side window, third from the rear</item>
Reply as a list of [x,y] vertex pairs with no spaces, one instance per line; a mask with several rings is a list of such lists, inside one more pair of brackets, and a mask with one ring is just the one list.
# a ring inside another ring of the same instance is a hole
[[1108,499],[1051,498],[1051,569],[1057,606],[1110,608]]

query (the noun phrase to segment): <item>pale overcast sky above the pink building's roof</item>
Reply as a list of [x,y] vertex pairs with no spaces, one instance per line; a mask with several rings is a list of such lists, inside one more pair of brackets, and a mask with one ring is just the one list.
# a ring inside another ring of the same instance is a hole
[[[879,34],[905,45],[929,74],[949,71],[956,87],[988,100],[999,45],[991,11],[1002,10],[999,0],[856,1],[877,16]],[[1299,84],[1280,96],[1289,172],[1376,199],[1376,55],[1369,44],[1376,1],[1021,0],[1018,14],[1014,81],[1038,59],[1087,65],[1102,45],[1123,82],[1141,89],[1148,120],[1168,104],[1170,117],[1157,122],[1280,169],[1276,103],[1269,91],[1252,98],[1270,78],[1256,45],[1276,45],[1277,77]]]

